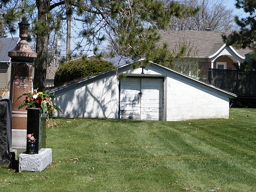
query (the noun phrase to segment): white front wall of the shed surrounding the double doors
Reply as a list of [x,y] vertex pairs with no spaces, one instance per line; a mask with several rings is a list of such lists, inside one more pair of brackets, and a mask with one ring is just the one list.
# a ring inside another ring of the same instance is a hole
[[[163,119],[180,121],[203,118],[228,118],[229,96],[206,84],[177,74],[161,67],[119,71],[127,75],[146,78],[162,77]],[[93,80],[77,82],[72,86],[58,89],[54,100],[67,118],[118,118],[119,82],[116,74],[98,76]],[[148,96],[150,97],[150,96]]]

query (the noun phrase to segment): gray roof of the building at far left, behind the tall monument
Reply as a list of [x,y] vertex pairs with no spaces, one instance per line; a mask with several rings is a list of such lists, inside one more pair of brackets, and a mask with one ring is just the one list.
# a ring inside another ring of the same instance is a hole
[[8,52],[12,51],[19,41],[19,37],[0,38],[0,62],[10,62]]

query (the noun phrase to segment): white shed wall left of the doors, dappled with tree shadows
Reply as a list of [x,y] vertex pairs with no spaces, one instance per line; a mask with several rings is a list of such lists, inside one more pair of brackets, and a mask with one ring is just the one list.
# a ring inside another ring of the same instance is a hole
[[118,118],[118,81],[116,76],[98,79],[76,89],[58,94],[55,98],[66,118]]

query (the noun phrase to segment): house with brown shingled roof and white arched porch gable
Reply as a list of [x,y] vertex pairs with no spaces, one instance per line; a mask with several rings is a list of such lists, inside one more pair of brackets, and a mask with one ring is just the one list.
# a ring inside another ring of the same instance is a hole
[[190,45],[198,50],[199,69],[204,68],[201,75],[207,77],[208,69],[236,70],[233,63],[243,63],[245,54],[251,52],[249,49],[235,49],[226,45],[222,40],[224,32],[216,31],[173,31],[160,30],[162,39],[160,43],[167,42],[170,51],[175,49],[178,43],[185,38]]

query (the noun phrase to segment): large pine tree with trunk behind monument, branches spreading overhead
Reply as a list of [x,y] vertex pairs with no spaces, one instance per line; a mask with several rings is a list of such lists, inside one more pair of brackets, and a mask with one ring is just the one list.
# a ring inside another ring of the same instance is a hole
[[[6,0],[7,1],[7,0]],[[9,0],[12,1],[12,0]],[[18,2],[17,0],[15,2]],[[127,53],[132,58],[146,58],[141,65],[147,65],[154,58],[156,42],[160,36],[157,29],[164,29],[170,23],[170,16],[182,17],[198,11],[171,2],[168,6],[159,0],[34,0],[21,1],[23,14],[33,19],[33,30],[36,36],[34,86],[44,91],[46,85],[46,67],[48,38],[52,31],[61,28],[60,20],[73,16],[82,23],[83,30],[79,36],[86,40],[85,45],[96,51],[98,42],[108,39],[116,45],[119,54]],[[36,5],[37,9],[33,5]],[[18,4],[17,4],[18,5]],[[17,10],[17,6],[15,7]],[[13,9],[12,9],[13,10]],[[14,25],[19,15],[13,10],[9,14],[8,23]],[[33,18],[33,15],[37,15]],[[9,26],[12,30],[12,28]],[[77,48],[82,49],[81,42]]]

